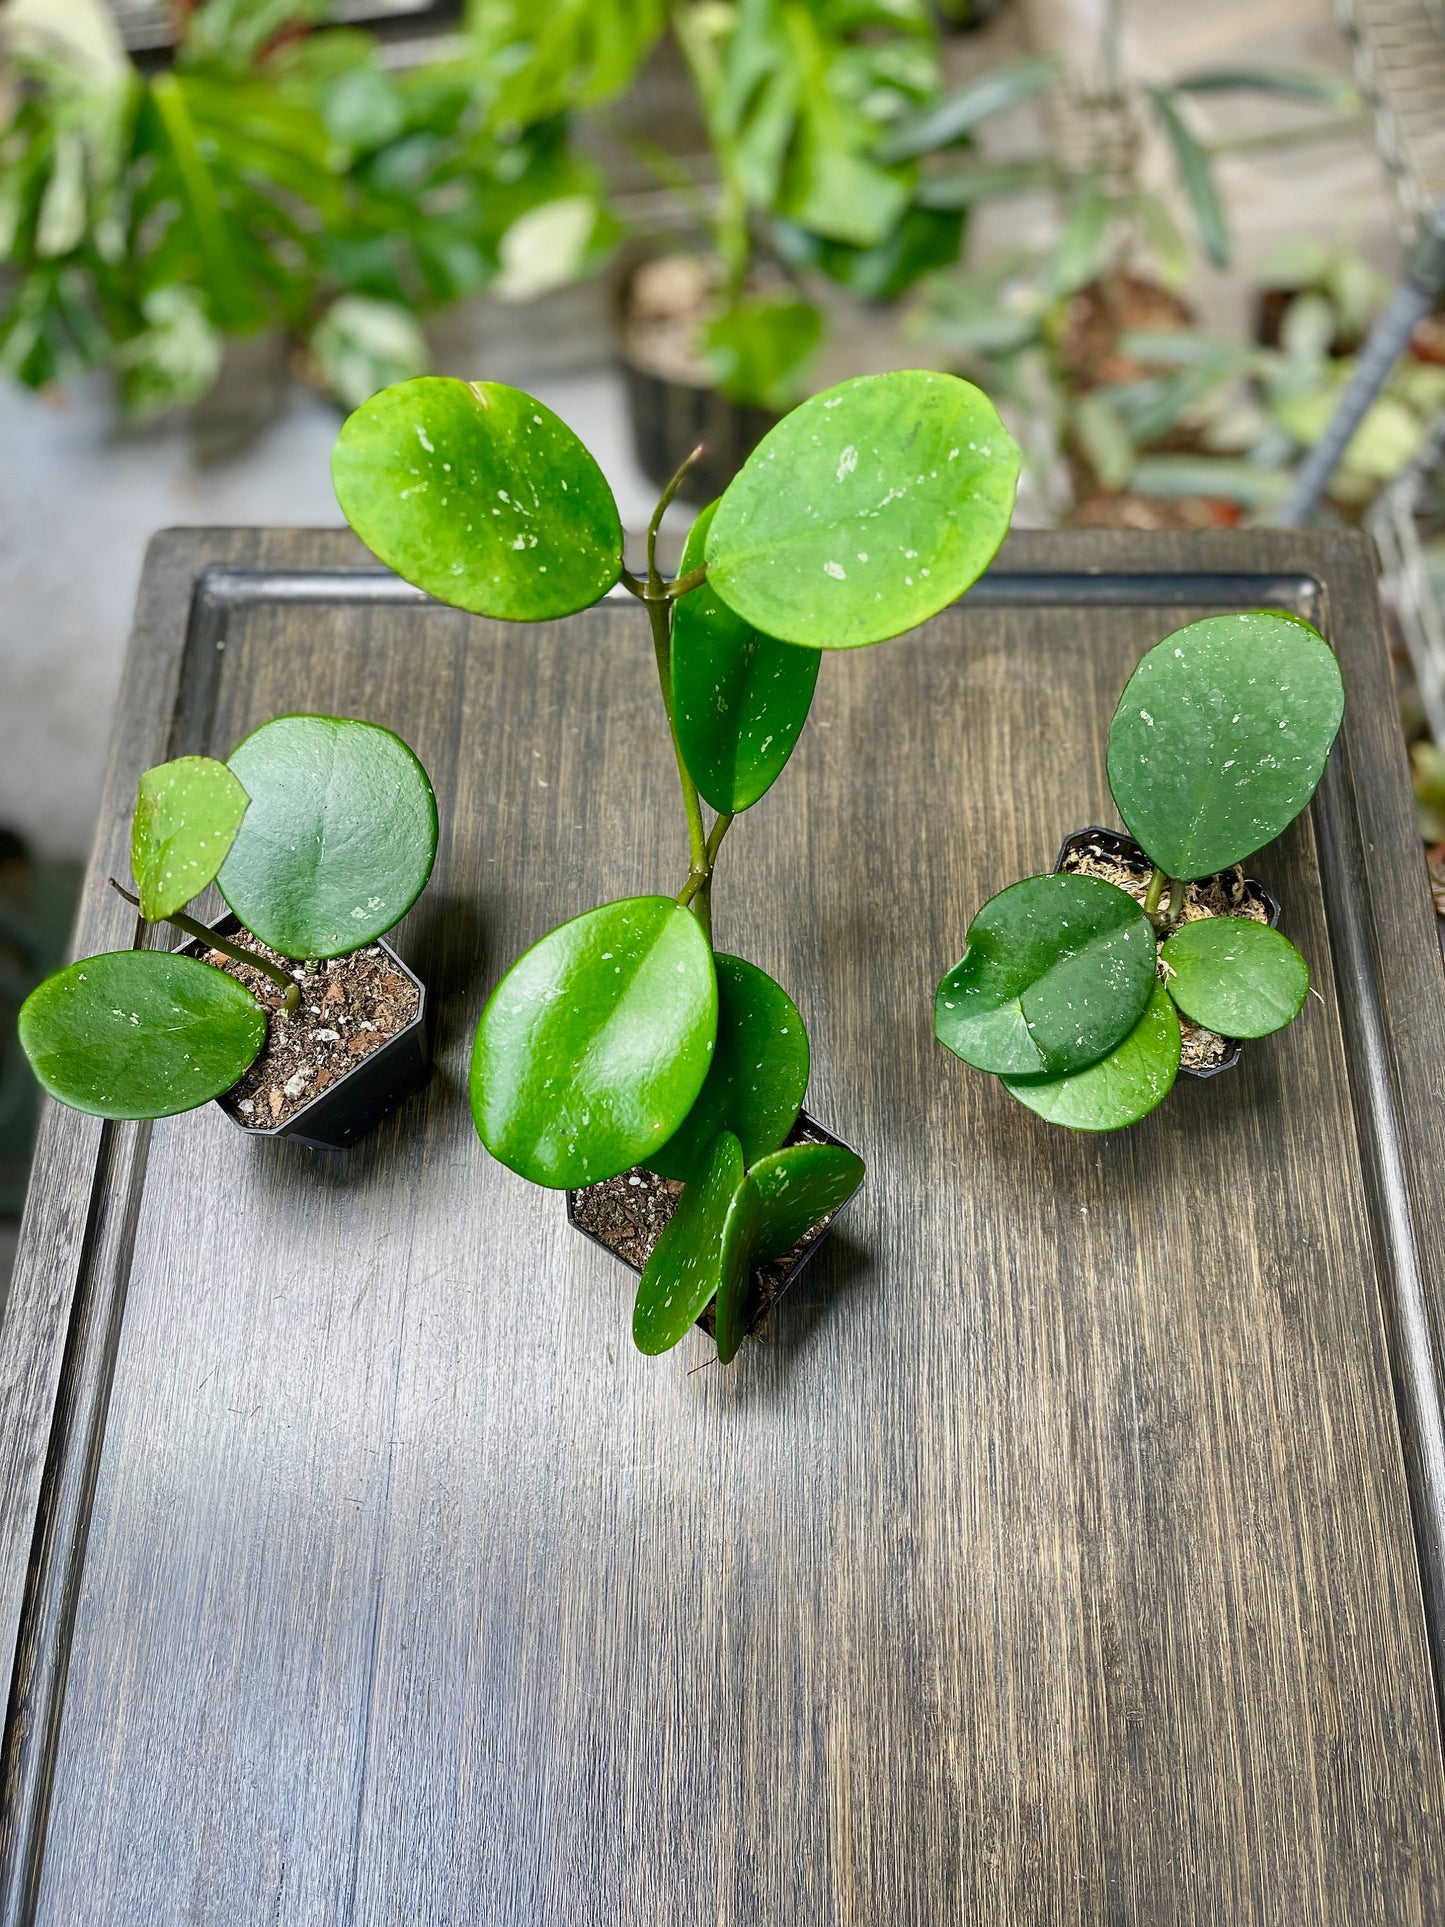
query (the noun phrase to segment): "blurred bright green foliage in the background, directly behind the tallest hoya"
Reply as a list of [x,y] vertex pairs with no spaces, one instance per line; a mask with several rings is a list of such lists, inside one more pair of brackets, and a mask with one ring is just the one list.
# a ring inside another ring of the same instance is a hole
[[[782,412],[801,397],[827,324],[796,287],[757,287],[759,266],[892,301],[954,262],[967,197],[921,162],[965,146],[985,114],[1056,67],[1021,62],[940,94],[923,0],[674,0],[670,17],[719,175],[703,216],[719,287],[697,349],[721,393]],[[661,158],[661,172],[672,181],[678,168]]]

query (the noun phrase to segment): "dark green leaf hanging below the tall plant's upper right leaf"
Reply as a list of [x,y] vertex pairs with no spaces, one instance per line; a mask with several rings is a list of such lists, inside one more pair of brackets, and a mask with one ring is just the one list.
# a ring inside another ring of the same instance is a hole
[[[697,516],[682,574],[703,559],[717,503]],[[807,723],[823,657],[773,642],[734,615],[711,582],[672,615],[672,713],[682,759],[713,809],[736,815],[773,788]]]

